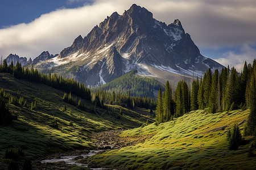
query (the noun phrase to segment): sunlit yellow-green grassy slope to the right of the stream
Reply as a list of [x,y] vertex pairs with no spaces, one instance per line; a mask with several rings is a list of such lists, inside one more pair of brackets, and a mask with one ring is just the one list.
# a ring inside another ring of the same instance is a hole
[[[92,156],[90,160],[110,168],[127,169],[251,169],[256,157],[248,158],[251,137],[237,151],[228,150],[226,133],[237,123],[243,133],[249,109],[209,114],[192,111],[174,121],[125,131],[131,140],[144,143]],[[220,128],[226,126],[226,128]]]

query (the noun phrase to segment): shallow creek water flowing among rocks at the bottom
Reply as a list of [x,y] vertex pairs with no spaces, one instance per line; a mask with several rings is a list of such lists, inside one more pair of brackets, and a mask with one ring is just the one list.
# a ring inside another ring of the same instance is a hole
[[[55,163],[55,162],[59,162],[59,161],[64,161],[66,164],[72,164],[72,165],[77,165],[77,166],[81,166],[81,167],[88,167],[88,164],[76,163],[77,160],[73,160],[73,159],[76,158],[77,156],[82,156],[82,157],[86,158],[86,157],[97,154],[97,152],[99,152],[99,151],[101,151],[101,150],[90,150],[90,152],[85,155],[61,156],[61,158],[59,158],[59,159],[42,160],[41,163]],[[105,168],[91,168],[91,169],[101,170],[101,169],[105,169]]]

